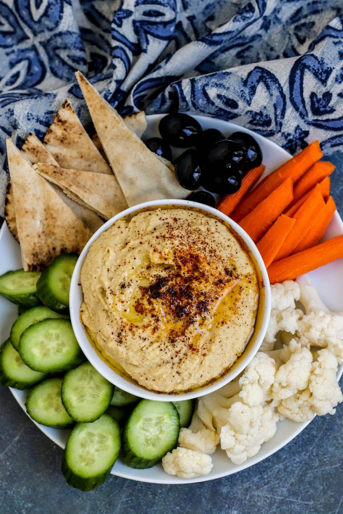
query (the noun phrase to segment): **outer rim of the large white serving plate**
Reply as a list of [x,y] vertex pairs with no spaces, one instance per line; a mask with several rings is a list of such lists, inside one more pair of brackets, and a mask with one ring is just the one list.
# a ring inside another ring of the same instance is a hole
[[[159,119],[161,119],[164,116],[166,116],[166,114],[167,113],[165,113],[165,114],[151,114],[151,115],[147,115],[148,126],[149,126],[149,124],[151,122],[158,121]],[[186,114],[189,114],[189,113],[186,113]],[[260,135],[260,134],[258,134],[256,132],[254,132],[254,131],[251,131],[248,128],[245,128],[244,126],[238,125],[236,123],[232,123],[229,120],[222,120],[222,119],[218,119],[218,118],[213,118],[211,116],[196,115],[196,114],[193,114],[193,113],[191,114],[191,116],[194,117],[195,119],[197,119],[200,122],[201,122],[201,120],[208,121],[209,119],[213,119],[214,122],[223,122],[224,124],[229,124],[229,125],[231,125],[233,127],[237,127],[237,131],[245,132],[247,134],[250,134],[251,136],[255,137],[257,140],[259,140],[259,139],[267,140],[268,144],[274,146],[274,148],[277,149],[277,152],[279,154],[281,152],[283,153],[285,159],[292,157],[292,155],[289,152],[284,150],[281,146],[279,146],[274,141],[272,141],[272,140],[270,140],[270,139],[268,139],[268,138],[266,138],[266,137],[264,137],[264,136],[262,136],[262,135]],[[341,230],[342,230],[342,233],[343,233],[343,220],[340,217],[340,215],[339,215],[337,210],[336,210],[336,212],[334,214],[334,217],[336,218],[336,221],[340,224],[340,227],[341,227]],[[6,220],[4,220],[3,225],[0,228],[0,244],[1,244],[2,237],[3,237],[3,233],[5,232],[5,226],[7,227]],[[7,229],[8,229],[8,227],[7,227]],[[338,374],[337,374],[338,379],[341,377],[342,373],[343,373],[343,366],[339,366],[338,367]],[[12,393],[13,397],[15,398],[16,402],[19,403],[19,405],[22,408],[22,410],[30,418],[30,416],[26,412],[25,403],[18,397],[18,393],[20,393],[21,391],[18,391],[18,390],[13,389],[13,388],[9,388],[9,390],[11,391],[11,393]],[[51,435],[50,433],[48,433],[48,429],[50,427],[45,427],[43,425],[38,424],[32,418],[30,418],[30,419],[34,423],[34,425],[37,426],[41,430],[41,432],[43,432],[53,443],[55,443],[60,448],[64,449],[64,444],[63,444],[63,441],[61,440],[61,435],[60,435],[60,437],[55,437],[54,435]],[[115,465],[114,465],[114,467],[111,470],[111,474],[115,475],[115,476],[120,476],[121,478],[129,479],[129,480],[134,480],[136,482],[153,483],[153,484],[179,485],[179,484],[194,484],[194,483],[199,483],[199,482],[209,482],[209,481],[212,481],[212,480],[224,478],[225,476],[229,476],[231,474],[238,473],[240,471],[243,471],[244,469],[247,469],[247,468],[249,468],[251,466],[254,466],[255,464],[258,464],[259,462],[264,461],[266,458],[270,457],[270,455],[273,455],[274,453],[279,451],[281,448],[286,446],[288,443],[290,443],[292,439],[297,437],[297,435],[299,435],[299,433],[302,432],[302,430],[304,430],[311,423],[311,421],[312,421],[312,419],[309,420],[309,421],[305,421],[303,423],[297,423],[296,424],[297,428],[296,428],[296,430],[294,432],[292,431],[292,433],[288,437],[285,437],[282,440],[282,442],[280,442],[274,448],[272,448],[269,451],[267,451],[267,453],[264,454],[263,456],[258,457],[259,454],[257,454],[254,457],[248,458],[245,461],[245,463],[237,466],[237,468],[231,468],[228,471],[218,472],[218,473],[215,474],[215,476],[211,476],[209,474],[209,475],[205,475],[205,476],[197,476],[194,479],[188,479],[188,480],[181,479],[181,478],[179,478],[177,476],[173,476],[173,478],[169,479],[168,477],[170,475],[168,475],[167,473],[164,472],[164,475],[165,475],[164,479],[161,479],[161,480],[153,479],[152,480],[152,479],[146,479],[146,478],[144,478],[144,476],[132,476],[130,473],[132,473],[133,468],[129,468],[129,467],[127,468],[128,472],[121,472],[121,471],[118,472],[115,469]],[[280,421],[279,423],[282,423],[282,421]],[[229,459],[228,459],[228,462],[230,462]]]

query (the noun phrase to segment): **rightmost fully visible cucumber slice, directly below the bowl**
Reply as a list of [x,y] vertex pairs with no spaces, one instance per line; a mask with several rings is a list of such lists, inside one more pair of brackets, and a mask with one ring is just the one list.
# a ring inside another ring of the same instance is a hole
[[141,400],[122,432],[124,463],[151,468],[177,443],[179,415],[172,401]]

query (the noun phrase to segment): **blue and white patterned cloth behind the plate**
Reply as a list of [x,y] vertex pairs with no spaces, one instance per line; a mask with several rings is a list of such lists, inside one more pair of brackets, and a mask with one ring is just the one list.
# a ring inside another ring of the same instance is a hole
[[5,140],[42,138],[74,71],[122,114],[219,117],[291,153],[343,149],[342,0],[0,0],[0,212]]

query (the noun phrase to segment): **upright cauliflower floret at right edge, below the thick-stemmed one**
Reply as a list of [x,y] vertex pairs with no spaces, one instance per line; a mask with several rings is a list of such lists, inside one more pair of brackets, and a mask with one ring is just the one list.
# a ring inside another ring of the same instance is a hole
[[334,355],[328,350],[318,352],[318,360],[312,364],[309,389],[312,393],[310,403],[319,416],[334,414],[334,407],[343,400],[336,378],[337,368]]

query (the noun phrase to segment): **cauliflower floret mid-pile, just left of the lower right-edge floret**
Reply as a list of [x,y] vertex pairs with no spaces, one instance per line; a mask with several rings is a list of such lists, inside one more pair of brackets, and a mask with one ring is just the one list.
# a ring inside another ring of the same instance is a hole
[[295,339],[292,339],[290,345],[285,346],[280,353],[283,353],[284,358],[287,358],[288,353],[290,356],[286,363],[280,366],[275,375],[273,384],[274,400],[283,400],[293,396],[298,391],[306,389],[312,371],[312,353],[308,348],[302,348]]

